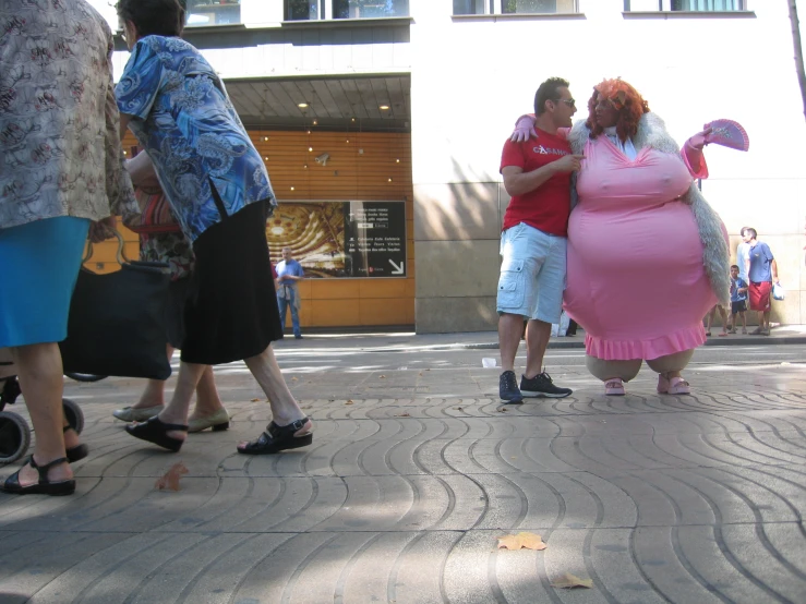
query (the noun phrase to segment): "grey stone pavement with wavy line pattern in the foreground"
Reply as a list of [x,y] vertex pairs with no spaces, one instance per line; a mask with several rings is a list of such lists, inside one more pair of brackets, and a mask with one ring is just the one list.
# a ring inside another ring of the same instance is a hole
[[[267,420],[242,365],[216,374],[230,431],[179,455],[112,420],[137,380],[69,382],[93,450],[73,497],[0,494],[0,603],[806,602],[805,365],[702,362],[690,397],[645,370],[607,398],[558,358],[573,397],[501,407],[479,351],[293,354],[314,444],[270,457],[234,451]],[[521,531],[548,548],[496,548]]]

